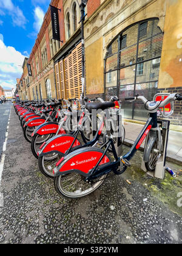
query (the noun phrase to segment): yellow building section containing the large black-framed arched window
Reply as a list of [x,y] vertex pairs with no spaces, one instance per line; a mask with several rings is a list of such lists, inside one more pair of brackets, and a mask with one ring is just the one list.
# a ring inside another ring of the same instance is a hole
[[[100,1],[84,28],[87,96],[117,95],[126,118],[146,120],[143,103],[125,98],[182,93],[181,9],[180,0]],[[182,125],[181,110],[176,102],[172,124]]]

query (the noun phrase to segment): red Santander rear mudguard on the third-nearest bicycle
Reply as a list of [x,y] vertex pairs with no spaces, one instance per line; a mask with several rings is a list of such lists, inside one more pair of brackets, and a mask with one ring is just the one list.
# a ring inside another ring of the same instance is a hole
[[[34,130],[34,132],[32,133],[32,137],[35,134],[39,134],[39,135],[50,134],[50,133],[56,134],[56,132],[58,131],[58,128],[59,128],[59,125],[56,122],[49,122],[49,123],[41,124]],[[66,131],[61,128],[59,130],[59,134],[62,134],[62,133],[66,133]]]

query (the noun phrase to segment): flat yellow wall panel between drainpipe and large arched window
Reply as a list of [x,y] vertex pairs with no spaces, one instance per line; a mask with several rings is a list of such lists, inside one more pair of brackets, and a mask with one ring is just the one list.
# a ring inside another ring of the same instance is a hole
[[104,62],[102,38],[99,38],[99,40],[86,48],[86,79],[87,94],[103,93]]

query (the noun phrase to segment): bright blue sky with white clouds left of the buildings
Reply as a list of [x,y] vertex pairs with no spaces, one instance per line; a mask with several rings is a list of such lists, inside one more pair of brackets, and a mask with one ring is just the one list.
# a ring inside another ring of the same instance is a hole
[[0,85],[16,86],[50,0],[0,0]]

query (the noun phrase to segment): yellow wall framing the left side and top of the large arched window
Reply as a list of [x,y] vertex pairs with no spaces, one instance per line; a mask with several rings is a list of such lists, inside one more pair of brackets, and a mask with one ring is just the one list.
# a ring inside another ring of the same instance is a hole
[[84,29],[87,94],[104,93],[104,58],[110,42],[122,30],[149,18],[158,18],[158,26],[164,30],[167,1],[108,0],[89,18]]

